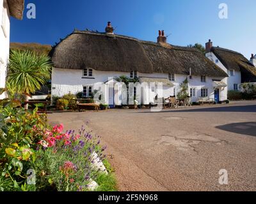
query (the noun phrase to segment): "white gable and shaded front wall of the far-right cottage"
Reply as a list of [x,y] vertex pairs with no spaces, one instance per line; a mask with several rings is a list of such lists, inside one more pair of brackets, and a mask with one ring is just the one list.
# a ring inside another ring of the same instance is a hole
[[212,52],[209,52],[205,56],[208,57],[208,59],[210,59],[212,62],[214,62],[217,66],[219,66],[223,71],[225,71],[228,74],[228,76],[229,76],[227,78],[228,91],[234,90],[234,84],[237,84],[238,89],[240,89],[241,71],[233,70],[234,75],[231,76],[230,70],[225,68],[225,66],[221,63],[221,61],[218,59],[218,57],[216,57],[216,55],[214,55]]

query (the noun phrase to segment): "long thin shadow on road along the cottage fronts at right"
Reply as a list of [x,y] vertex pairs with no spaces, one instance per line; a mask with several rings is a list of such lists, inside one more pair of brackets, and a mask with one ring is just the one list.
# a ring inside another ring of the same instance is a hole
[[[247,106],[224,106],[224,107],[210,107],[210,108],[181,108],[181,109],[172,109],[166,111],[163,109],[161,112],[179,112],[179,113],[189,113],[189,112],[256,112],[256,105],[247,105]],[[159,112],[138,112],[138,113],[159,113]]]

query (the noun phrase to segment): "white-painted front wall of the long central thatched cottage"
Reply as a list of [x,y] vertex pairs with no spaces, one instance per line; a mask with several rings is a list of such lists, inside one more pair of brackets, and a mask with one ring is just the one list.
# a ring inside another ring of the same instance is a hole
[[[97,71],[93,70],[92,78],[84,78],[83,70],[81,69],[60,69],[53,68],[52,69],[52,96],[63,96],[68,93],[76,94],[77,92],[83,92],[84,86],[92,86],[92,90],[99,90],[101,87],[101,91],[104,92],[106,99],[104,103],[110,103],[108,85],[105,83],[110,79],[115,77],[120,77],[125,75],[126,77],[130,77],[130,73],[125,72],[115,72],[115,71]],[[166,78],[168,79],[167,73],[138,73],[138,77],[150,77],[150,78]],[[178,94],[180,91],[180,84],[184,82],[187,78],[186,75],[175,75],[175,82],[172,82],[174,85],[170,87],[168,85],[163,86],[163,91],[160,89],[153,89],[150,85],[146,85],[143,87],[142,91],[144,92],[143,97],[141,98],[141,103],[148,105],[149,103],[154,101],[154,97],[156,95],[159,98],[164,97],[168,98],[169,96],[174,96]],[[193,102],[198,101],[201,97],[201,89],[208,89],[209,97],[214,98],[214,87],[212,80],[222,80],[227,84],[227,78],[220,77],[206,77],[205,82],[201,82],[201,77],[193,76],[188,80],[189,90],[190,88],[195,89],[195,96],[191,99]],[[105,84],[102,86],[102,84]],[[112,85],[113,86],[113,85]],[[121,86],[118,88],[121,90]],[[119,93],[119,95],[118,95]],[[188,94],[190,91],[188,91]],[[115,105],[122,105],[122,95],[121,91],[115,92]],[[227,87],[220,89],[220,101],[225,101],[227,99]]]

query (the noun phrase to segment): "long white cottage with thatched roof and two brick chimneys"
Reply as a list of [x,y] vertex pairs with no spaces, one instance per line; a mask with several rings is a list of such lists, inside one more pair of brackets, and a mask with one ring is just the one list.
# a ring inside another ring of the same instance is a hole
[[[52,96],[83,92],[89,97],[100,89],[105,103],[122,105],[125,94],[115,78],[126,76],[139,78],[143,87],[134,91],[141,92],[138,101],[144,105],[157,95],[177,95],[186,79],[193,102],[200,97],[227,100],[227,73],[195,48],[166,43],[164,31],[159,31],[154,43],[114,34],[109,22],[106,33],[74,31],[54,46],[50,55],[54,64]],[[161,82],[163,88],[154,82]]]

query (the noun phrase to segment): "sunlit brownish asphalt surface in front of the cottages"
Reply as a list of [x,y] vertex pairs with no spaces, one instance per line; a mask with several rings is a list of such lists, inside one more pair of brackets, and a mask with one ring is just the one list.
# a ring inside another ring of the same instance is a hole
[[256,191],[256,101],[48,117],[66,129],[89,122],[108,145],[120,191]]

